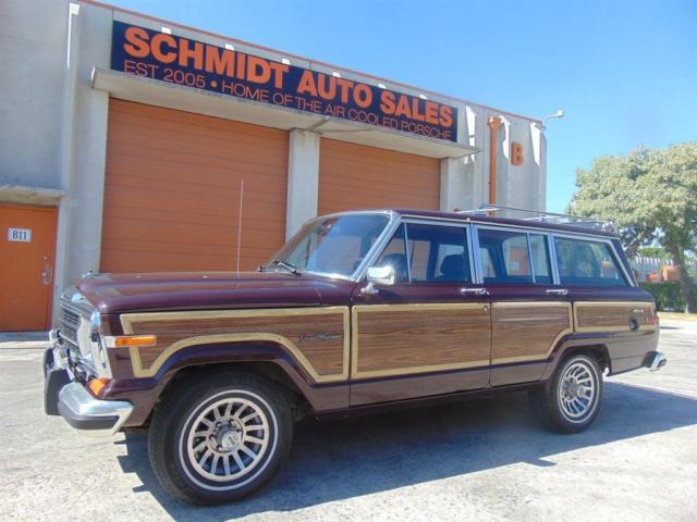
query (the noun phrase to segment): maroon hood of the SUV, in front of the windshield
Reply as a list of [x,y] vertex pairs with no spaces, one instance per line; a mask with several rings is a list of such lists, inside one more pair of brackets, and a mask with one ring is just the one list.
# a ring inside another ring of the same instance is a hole
[[98,274],[75,286],[101,313],[124,313],[320,306],[322,294],[351,284],[281,272],[168,272]]

